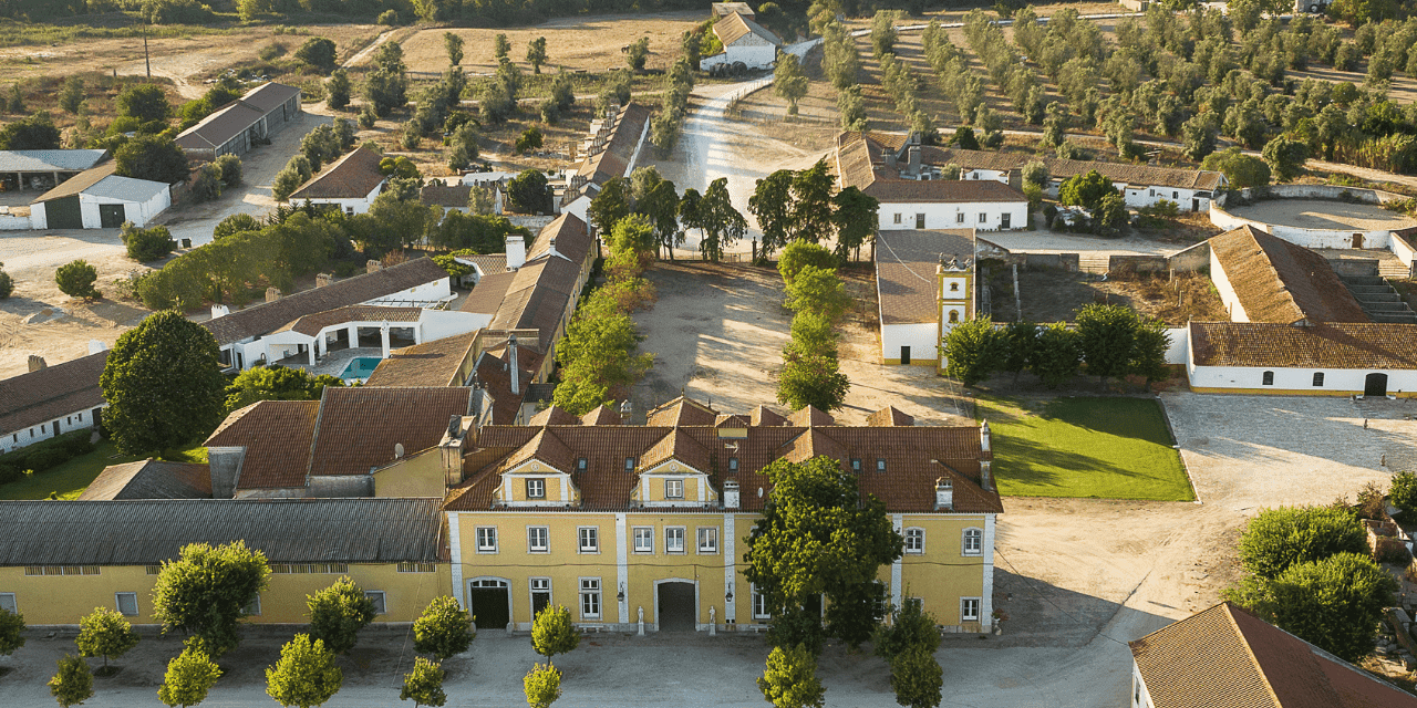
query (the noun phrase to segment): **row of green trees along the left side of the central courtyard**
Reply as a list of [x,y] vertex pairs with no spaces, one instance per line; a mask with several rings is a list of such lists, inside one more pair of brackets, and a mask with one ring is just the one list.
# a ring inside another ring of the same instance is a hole
[[615,222],[606,241],[605,283],[581,302],[555,350],[561,365],[555,405],[572,415],[625,398],[623,388],[655,362],[652,353],[635,354],[643,337],[631,317],[655,299],[653,283],[643,278],[655,258],[655,225],[629,214]]

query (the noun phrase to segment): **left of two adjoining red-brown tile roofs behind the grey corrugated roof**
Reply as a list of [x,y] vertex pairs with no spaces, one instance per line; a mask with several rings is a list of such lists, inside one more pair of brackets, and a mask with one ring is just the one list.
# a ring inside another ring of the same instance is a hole
[[228,415],[205,446],[247,449],[238,490],[305,487],[319,415],[319,401],[256,401]]

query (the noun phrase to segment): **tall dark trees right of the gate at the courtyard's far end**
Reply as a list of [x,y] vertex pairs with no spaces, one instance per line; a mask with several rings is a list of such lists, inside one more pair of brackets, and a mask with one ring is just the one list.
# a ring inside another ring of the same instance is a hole
[[778,170],[761,180],[748,198],[748,211],[762,229],[762,258],[792,242],[836,241],[836,258],[860,258],[876,234],[880,202],[856,187],[832,193],[836,180],[826,160],[806,170]]

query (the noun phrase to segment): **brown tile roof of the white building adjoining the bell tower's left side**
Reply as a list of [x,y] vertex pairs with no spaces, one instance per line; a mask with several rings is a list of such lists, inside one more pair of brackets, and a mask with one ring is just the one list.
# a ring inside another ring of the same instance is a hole
[[876,295],[881,324],[939,321],[939,258],[975,256],[973,229],[881,231],[876,235]]

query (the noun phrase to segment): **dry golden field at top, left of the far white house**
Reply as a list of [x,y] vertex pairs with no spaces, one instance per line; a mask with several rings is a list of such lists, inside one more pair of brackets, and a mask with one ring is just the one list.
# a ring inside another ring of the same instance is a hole
[[707,18],[701,11],[684,11],[561,17],[536,27],[497,30],[422,30],[404,41],[404,59],[412,71],[444,71],[448,68],[444,33],[451,31],[463,40],[463,71],[492,74],[497,68],[492,40],[497,34],[506,34],[512,42],[507,57],[527,72],[531,71],[526,61],[527,44],[537,37],[547,38],[547,64],[541,71],[565,67],[568,71],[601,72],[625,67],[621,48],[640,37],[649,37],[649,59],[645,67],[665,69],[679,57],[680,35]]

